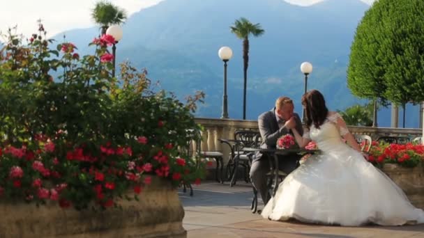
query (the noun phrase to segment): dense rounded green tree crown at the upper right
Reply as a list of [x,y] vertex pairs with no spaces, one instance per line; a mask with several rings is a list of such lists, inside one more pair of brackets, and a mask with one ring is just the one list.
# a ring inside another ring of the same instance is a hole
[[358,97],[403,108],[424,100],[424,1],[374,2],[356,29],[347,84]]

